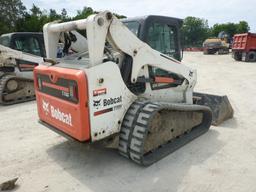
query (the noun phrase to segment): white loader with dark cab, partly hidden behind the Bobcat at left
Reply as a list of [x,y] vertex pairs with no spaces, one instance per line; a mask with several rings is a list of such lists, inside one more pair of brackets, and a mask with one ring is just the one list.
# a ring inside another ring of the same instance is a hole
[[[72,39],[72,35],[75,39]],[[87,48],[86,39],[76,31],[62,33],[61,41],[76,52]],[[0,104],[10,105],[35,99],[33,69],[44,61],[44,57],[42,33],[16,32],[0,37]]]

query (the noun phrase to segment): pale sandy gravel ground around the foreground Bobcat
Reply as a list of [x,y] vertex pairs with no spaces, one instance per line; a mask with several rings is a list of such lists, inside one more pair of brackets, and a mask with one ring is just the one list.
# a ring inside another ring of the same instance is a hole
[[196,91],[228,95],[233,119],[143,168],[39,125],[35,102],[0,106],[0,182],[19,177],[24,192],[256,191],[256,63],[202,53],[184,63],[198,70]]

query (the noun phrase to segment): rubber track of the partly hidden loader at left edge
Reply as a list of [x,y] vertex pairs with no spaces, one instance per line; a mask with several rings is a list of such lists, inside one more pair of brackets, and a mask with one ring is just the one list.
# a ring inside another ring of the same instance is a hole
[[15,75],[10,75],[10,74],[2,75],[2,77],[0,77],[0,104],[12,105],[12,104],[16,104],[16,103],[22,103],[22,102],[26,102],[26,101],[35,100],[35,95],[32,95],[32,96],[21,96],[21,97],[16,98],[15,100],[5,101],[4,94],[6,94],[6,93],[4,91],[6,88],[6,83],[12,78],[20,79],[22,81],[32,81],[33,82],[33,80],[16,77]]

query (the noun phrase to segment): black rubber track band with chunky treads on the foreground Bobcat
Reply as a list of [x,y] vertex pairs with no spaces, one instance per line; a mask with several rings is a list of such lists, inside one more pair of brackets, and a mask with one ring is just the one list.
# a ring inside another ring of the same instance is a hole
[[[147,138],[151,120],[158,111],[163,109],[172,111],[200,111],[203,113],[203,121],[189,133],[176,137],[171,142],[144,155],[144,142]],[[212,112],[206,106],[135,101],[128,109],[121,126],[119,153],[137,164],[149,166],[207,132],[211,121]]]

